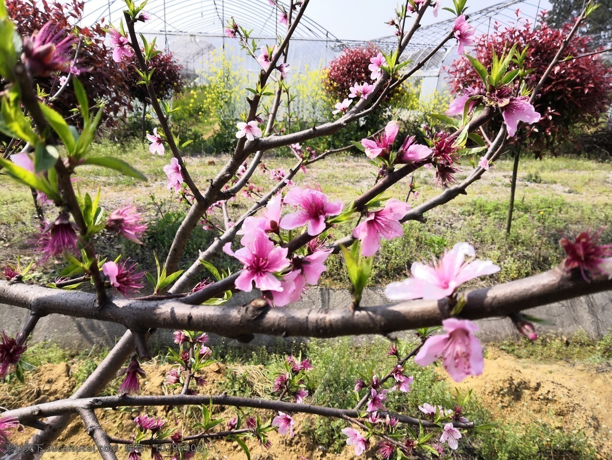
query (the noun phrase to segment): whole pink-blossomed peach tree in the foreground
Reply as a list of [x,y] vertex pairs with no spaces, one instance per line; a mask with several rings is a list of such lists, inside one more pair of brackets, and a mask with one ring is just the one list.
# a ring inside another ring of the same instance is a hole
[[[23,379],[21,355],[40,317],[64,314],[110,321],[128,329],[71,398],[2,412],[0,445],[7,450],[7,458],[38,458],[76,416],[83,420],[84,429],[105,459],[116,458],[111,447],[119,444],[131,446],[130,460],[141,458],[145,450],[156,459],[169,451],[173,458],[188,458],[200,443],[214,440],[236,442],[250,458],[246,439],[255,439],[265,448],[270,445],[267,434],[272,430],[293,436],[294,415],[299,413],[345,421],[343,434],[356,456],[373,448],[381,458],[446,456],[478,427],[464,413],[464,400],[456,401],[453,407],[423,401],[419,407],[412,407],[410,414],[388,410],[390,393],[401,395],[411,390],[414,376],[406,371],[408,360],[421,366],[441,360],[456,381],[477,376],[483,372],[483,354],[472,320],[509,316],[523,335],[535,339],[534,325],[521,313],[523,310],[612,287],[610,245],[600,245],[598,234],[583,232],[575,240],[562,240],[567,254],[562,266],[471,291],[462,291],[461,284],[496,273],[500,267],[476,258],[472,245],[461,242],[433,264],[414,262],[411,276],[390,283],[385,293],[394,303],[360,305],[381,239],[401,236],[403,223],[425,223],[425,213],[465,194],[469,185],[487,173],[521,124],[539,121],[541,114],[534,108],[534,101],[548,79],[554,78],[551,72],[566,56],[567,41],[592,6],[567,31],[567,40],[539,80],[528,83],[523,79],[517,84],[520,71],[512,69],[511,64],[523,50],[516,43],[508,43],[490,65],[466,53],[477,75],[476,84],[450,104],[447,114],[432,115],[439,123],[423,128],[423,143],[412,136],[398,139],[399,126],[392,119],[376,135],[354,139],[354,145],[372,164],[375,177],[347,203],[327,196],[316,185],[306,185],[309,166],[334,153],[314,152],[306,143],[319,136],[335,135],[375,112],[390,92],[443,46],[456,43],[463,52],[473,45],[474,28],[464,15],[465,0],[455,0],[447,7],[457,16],[453,29],[419,62],[402,61],[402,54],[425,13],[437,13],[441,5],[430,0],[405,2],[392,21],[397,36],[395,50],[371,57],[369,78],[352,82],[346,99],[329,107],[337,116],[334,121],[296,132],[277,131],[275,121],[283,94],[289,91],[288,45],[309,0],[290,2],[289,6],[276,0],[270,3],[277,10],[279,22],[286,26],[276,41],[258,43],[251,37],[248,24],[235,20],[227,24],[226,35],[236,39],[259,63],[261,72],[248,88],[244,112],[236,121],[234,150],[217,175],[207,180],[192,174],[181,154],[188,139],[177,139],[169,123],[174,108],[159,102],[155,93],[149,64],[157,51],[153,43],[140,42],[136,31],[146,20],[144,4],[127,0],[124,21],[111,31],[113,60],[136,59],[141,84],[157,116],[158,126],[148,136],[151,154],[169,158],[164,168],[168,188],[189,206],[165,260],[156,258],[156,273],[143,273],[122,254],[102,253],[96,247],[96,236],[102,231],[116,232],[139,243],[146,224],[136,207],[126,202],[105,215],[103,190],[90,193],[73,187],[73,179],[88,166],[146,180],[138,164],[91,155],[105,108],[89,104],[80,81],[88,77],[73,78],[76,109],[83,119],[80,129],[34,91],[35,76],[70,72],[80,37],[53,21],[21,37],[6,7],[0,7],[0,75],[4,81],[0,127],[6,135],[21,141],[13,146],[22,146],[7,148],[0,165],[4,173],[31,188],[37,206],[47,206],[47,214],[54,217],[40,223],[37,247],[43,259],[65,261],[62,278],[46,286],[31,276],[31,266],[4,267],[6,281],[0,281],[0,302],[26,308],[30,316],[17,335],[9,336],[6,331],[0,335],[0,377],[15,373]],[[480,127],[491,122],[498,122],[499,129],[490,139],[481,138]],[[278,149],[291,150],[295,165],[288,171],[272,171],[274,185],[269,190],[256,190],[253,174],[267,155]],[[461,160],[472,160],[477,166],[459,180],[457,165]],[[435,172],[442,191],[412,207],[412,190],[406,191],[400,181],[424,167]],[[228,201],[239,194],[251,199],[250,207],[242,215],[230,215]],[[222,211],[222,218],[211,218],[214,209]],[[332,237],[331,230],[340,228],[340,223],[352,230],[339,238],[334,231]],[[185,244],[194,229],[203,224],[215,232],[215,239],[201,248],[186,270],[179,269]],[[242,268],[227,273],[214,267],[210,259],[221,252],[235,258]],[[342,253],[345,258],[351,302],[334,310],[292,308],[307,286],[318,283],[331,253]],[[204,269],[214,281],[203,281]],[[145,279],[151,283],[152,292],[141,295]],[[235,291],[250,293],[252,299],[244,305],[228,305]],[[439,326],[444,333],[436,332]],[[140,363],[150,358],[147,338],[159,328],[174,330],[177,347],[171,349],[168,358],[175,366],[166,376],[171,392],[141,396],[138,391],[144,371]],[[419,343],[412,349],[393,344],[389,355],[394,357],[394,364],[386,373],[356,376],[353,409],[309,403],[307,381],[313,364],[307,357],[286,358],[282,373],[273,382],[276,399],[202,393],[206,385],[203,369],[213,361],[207,333],[248,342],[255,333],[326,338],[388,335],[408,329],[417,331]],[[123,377],[119,394],[97,396],[117,374]],[[190,432],[181,432],[170,421],[146,414],[156,406],[197,406],[201,417]],[[218,406],[235,407],[236,416],[228,420],[218,417]],[[132,439],[110,437],[100,425],[96,410],[130,407],[144,407],[134,420]],[[255,409],[267,410],[269,417],[262,419],[255,415]],[[37,429],[26,445],[38,447],[38,451],[8,451],[10,432],[20,424]]]

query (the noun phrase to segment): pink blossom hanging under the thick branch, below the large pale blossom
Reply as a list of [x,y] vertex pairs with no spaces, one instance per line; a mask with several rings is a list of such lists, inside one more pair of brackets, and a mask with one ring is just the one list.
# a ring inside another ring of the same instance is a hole
[[468,319],[449,318],[442,321],[446,334],[431,336],[414,357],[420,366],[428,366],[439,357],[455,382],[468,376],[479,376],[484,367],[482,347],[474,336],[478,326]]

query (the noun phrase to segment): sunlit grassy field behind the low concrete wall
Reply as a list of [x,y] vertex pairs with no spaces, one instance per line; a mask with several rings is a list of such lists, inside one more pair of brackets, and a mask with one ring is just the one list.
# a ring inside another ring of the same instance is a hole
[[[186,211],[165,187],[163,166],[170,161],[165,157],[151,155],[147,146],[140,143],[128,145],[108,141],[95,144],[93,155],[112,155],[129,161],[148,177],[147,182],[138,182],[121,176],[109,169],[86,166],[78,169],[81,192],[95,193],[102,188],[102,205],[107,212],[125,201],[135,203],[146,214],[149,231],[143,247],[114,237],[110,234],[99,237],[100,252],[116,256],[122,252],[136,261],[143,262],[151,269],[152,251],[160,258],[165,257],[170,240]],[[228,157],[224,155],[190,155],[185,158],[188,169],[197,184],[206,184]],[[294,158],[288,155],[270,155],[264,158],[268,168],[288,169],[294,165]],[[471,166],[463,166],[468,173]],[[597,162],[580,158],[553,158],[544,160],[521,159],[517,198],[512,232],[506,237],[506,215],[510,193],[512,161],[501,160],[482,179],[468,189],[468,195],[459,196],[446,206],[427,213],[425,224],[411,222],[405,225],[404,236],[392,242],[383,241],[376,257],[370,284],[385,284],[405,275],[413,261],[430,260],[445,248],[457,242],[468,241],[476,247],[480,258],[491,259],[501,265],[502,270],[493,277],[502,282],[531,275],[550,269],[561,261],[558,245],[561,233],[575,234],[586,228],[597,229],[608,226],[603,240],[612,240],[612,163]],[[315,163],[307,174],[297,174],[296,185],[320,185],[331,199],[349,202],[366,190],[374,180],[373,166],[363,155],[337,155]],[[441,192],[436,187],[433,171],[419,170],[413,177],[406,178],[389,191],[389,195],[405,198],[409,180],[414,180],[419,195],[412,199],[416,206]],[[14,261],[15,257],[34,257],[29,244],[29,234],[36,229],[34,209],[29,190],[13,182],[9,177],[0,176],[4,193],[0,196],[0,259]],[[263,190],[274,182],[269,173],[255,173],[253,184]],[[252,204],[250,199],[237,196],[230,203],[231,218],[237,218]],[[54,218],[48,209],[48,218]],[[220,210],[212,215],[220,222]],[[343,237],[352,230],[351,223],[335,228],[334,237]],[[188,265],[197,256],[198,250],[206,247],[215,236],[213,231],[198,228],[185,250],[183,265]],[[236,269],[234,259],[220,254],[214,264],[230,265]],[[48,262],[45,271],[53,275],[59,264]],[[324,286],[345,286],[346,272],[343,261],[332,256],[329,270],[321,283]]]

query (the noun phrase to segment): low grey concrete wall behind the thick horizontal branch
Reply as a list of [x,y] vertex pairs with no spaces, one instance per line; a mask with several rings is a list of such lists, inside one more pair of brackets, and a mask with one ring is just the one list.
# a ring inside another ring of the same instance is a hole
[[[239,305],[253,298],[253,294],[238,293],[231,303]],[[308,291],[297,308],[342,308],[351,302],[346,290],[319,289],[313,287]],[[388,300],[383,289],[368,289],[364,293],[362,305],[383,305]],[[527,310],[525,313],[553,322],[553,325],[537,325],[539,335],[572,335],[578,328],[583,328],[591,338],[598,339],[612,330],[612,291],[595,295],[578,297],[565,302],[553,303]],[[0,330],[15,335],[28,319],[29,310],[8,305],[0,305]],[[483,341],[494,341],[509,337],[518,337],[508,318],[491,318],[477,321]],[[121,337],[125,328],[110,322],[92,319],[73,318],[62,315],[51,315],[40,319],[34,330],[34,341],[49,340],[62,347],[91,347],[94,344],[112,346]],[[401,336],[403,333],[398,333]],[[405,333],[404,333],[405,334]],[[256,343],[266,343],[266,336],[259,336]],[[170,343],[171,331],[159,331],[152,338],[152,344]]]

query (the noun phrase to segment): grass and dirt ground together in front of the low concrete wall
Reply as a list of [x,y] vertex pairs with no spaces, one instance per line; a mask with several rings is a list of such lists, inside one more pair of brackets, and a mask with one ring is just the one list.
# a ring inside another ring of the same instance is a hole
[[[398,343],[400,351],[409,350],[411,346],[414,343]],[[306,382],[310,395],[308,402],[350,408],[356,404],[353,394],[356,376],[365,376],[371,371],[381,375],[393,365],[393,358],[386,356],[388,347],[389,341],[383,338],[376,338],[361,346],[356,346],[349,338],[316,339],[308,343],[279,340],[267,349],[221,341],[212,345],[213,357],[218,363],[205,374],[207,384],[203,391],[207,394],[227,391],[229,395],[274,399],[276,396],[272,391],[272,381],[282,372],[285,356],[301,354],[302,357],[310,358],[314,366]],[[35,344],[24,355],[24,360],[35,366],[34,371],[27,374],[24,384],[14,377],[4,384],[0,382],[0,398],[5,406],[13,407],[68,396],[72,388],[78,387],[91,373],[105,353],[104,349],[70,352],[54,344]],[[157,353],[151,362],[143,364],[147,376],[141,383],[146,394],[169,391],[163,384],[163,377],[171,368],[166,358],[167,351],[160,349]],[[612,415],[606,416],[605,411],[602,411],[603,406],[598,404],[604,404],[604,401],[612,398],[612,390],[609,385],[607,388],[599,387],[595,394],[587,390],[589,384],[597,379],[605,385],[605,373],[610,372],[611,360],[612,333],[600,341],[591,341],[579,332],[571,338],[550,338],[538,343],[506,341],[488,344],[485,347],[485,373],[466,380],[459,387],[447,379],[442,369],[436,366],[421,368],[409,361],[404,367],[406,373],[414,377],[411,391],[389,393],[386,406],[392,411],[418,415],[419,404],[429,402],[452,407],[457,394],[465,395],[466,391],[472,389],[471,385],[479,385],[463,410],[466,417],[477,425],[491,422],[494,425],[486,430],[465,433],[460,441],[460,449],[453,458],[609,458],[606,455],[612,452],[612,448],[607,445],[609,436],[606,432],[612,429],[612,425],[605,424],[610,423]],[[509,375],[507,369],[501,367],[503,363],[521,370]],[[539,367],[553,369],[554,374],[538,375]],[[541,395],[534,391],[533,386],[529,387],[526,380],[520,380],[521,372],[533,375],[538,382],[536,386],[542,387],[539,391]],[[502,376],[498,376],[500,373]],[[565,381],[568,378],[579,379],[576,384],[578,390],[574,391],[580,393],[572,394],[571,385]],[[55,383],[49,385],[51,380]],[[116,394],[119,384],[121,378],[115,379],[103,394]],[[532,396],[537,397],[530,400],[528,395],[517,393],[521,391],[517,385],[523,385],[525,393],[534,393]],[[532,391],[528,391],[530,388]],[[556,401],[559,391],[562,392],[561,396],[565,394],[565,398]],[[580,405],[567,399],[572,396],[580,398]],[[589,398],[593,402],[589,402]],[[524,402],[529,402],[529,405],[525,406]],[[509,409],[514,411],[507,412]],[[269,417],[269,412],[257,413],[263,420]],[[215,417],[231,417],[232,414],[231,408],[215,410]],[[580,418],[585,414],[599,417],[599,425],[595,428],[591,419]],[[111,436],[129,437],[133,431],[132,420],[135,415],[136,412],[99,411],[100,421]],[[157,416],[168,420],[170,428],[179,423],[183,432],[190,432],[188,427],[195,421],[196,415],[176,407],[166,407],[157,409]],[[288,442],[282,437],[272,437],[273,450],[268,453],[272,457],[264,458],[297,459],[301,454],[308,457],[313,451],[318,454],[310,458],[354,458],[351,448],[346,447],[346,437],[341,434],[345,426],[343,420],[300,417],[296,425],[296,438]],[[28,433],[26,430],[18,434],[17,439],[23,442],[29,436]],[[91,440],[76,421],[61,439],[61,443],[79,445],[91,443]],[[222,454],[227,453],[227,447],[222,445],[217,448],[220,451],[201,458],[223,458]],[[252,448],[253,454],[259,451],[254,443]],[[283,453],[283,449],[286,452]],[[340,457],[337,456],[339,453],[342,453]],[[239,458],[239,454],[233,453],[231,449],[229,455],[228,458]]]

